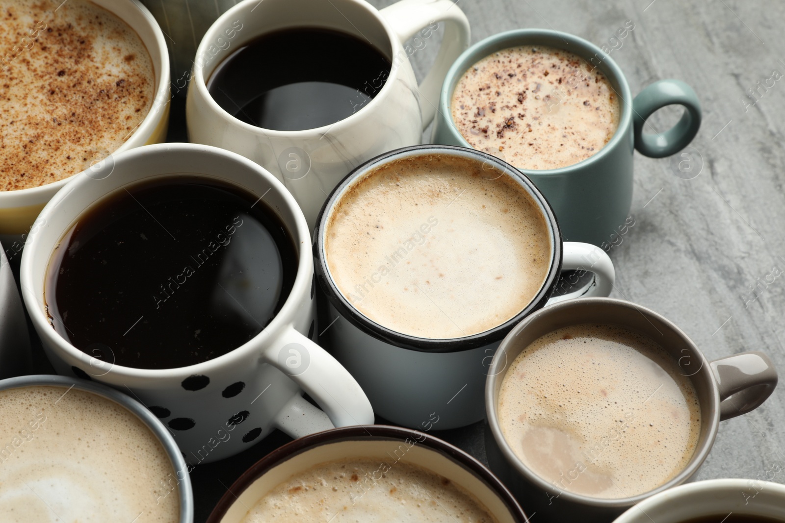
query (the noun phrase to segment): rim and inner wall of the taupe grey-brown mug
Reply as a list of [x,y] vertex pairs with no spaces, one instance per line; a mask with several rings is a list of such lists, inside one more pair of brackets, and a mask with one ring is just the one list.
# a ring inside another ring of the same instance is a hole
[[670,481],[650,492],[621,499],[582,496],[567,491],[560,492],[560,496],[589,505],[623,507],[686,481],[706,459],[717,435],[719,394],[708,361],[695,343],[663,316],[634,303],[611,298],[581,298],[557,303],[521,321],[502,342],[488,372],[490,377],[485,390],[485,406],[494,439],[507,462],[542,490],[553,489],[552,484],[540,478],[517,458],[504,438],[498,421],[498,394],[510,365],[526,347],[549,332],[583,323],[623,327],[643,334],[666,350],[679,372],[688,376],[695,387],[701,414],[700,435],[692,458],[685,468]]

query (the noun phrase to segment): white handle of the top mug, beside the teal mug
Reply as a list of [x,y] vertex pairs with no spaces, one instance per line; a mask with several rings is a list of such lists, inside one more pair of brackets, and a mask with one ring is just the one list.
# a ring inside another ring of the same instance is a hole
[[[401,44],[406,44],[409,38],[423,31],[421,38],[414,38],[414,48],[404,48],[400,51],[403,56],[392,57],[392,67],[397,67],[402,59],[414,54],[414,50],[423,49],[427,45],[425,38],[429,38],[430,33],[435,30],[435,27],[431,27],[432,24],[444,22],[444,38],[439,54],[419,87],[422,129],[425,129],[436,114],[439,93],[447,71],[455,59],[469,47],[469,20],[452,0],[436,0],[436,2],[433,0],[401,0],[385,7],[380,13],[392,26],[392,30],[398,35]],[[422,47],[419,47],[421,43]],[[412,49],[411,52],[410,49]]]

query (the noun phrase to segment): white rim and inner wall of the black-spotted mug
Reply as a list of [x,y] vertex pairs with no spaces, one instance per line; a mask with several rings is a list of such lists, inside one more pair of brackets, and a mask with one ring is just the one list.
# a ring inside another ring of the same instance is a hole
[[[113,155],[110,160],[111,165],[106,167],[110,171],[108,176],[96,180],[88,176],[89,173],[80,173],[68,184],[68,187],[60,191],[46,205],[41,213],[41,219],[44,220],[45,225],[38,227],[30,234],[22,259],[20,279],[27,311],[31,314],[36,329],[39,334],[45,336],[49,341],[57,343],[73,358],[83,359],[84,353],[60,337],[49,325],[44,301],[44,286],[50,270],[49,263],[53,260],[55,247],[62,241],[72,225],[79,220],[80,216],[89,212],[89,209],[92,209],[94,205],[99,205],[104,198],[115,191],[122,191],[123,187],[136,183],[144,183],[155,178],[177,176],[199,176],[220,180],[254,194],[260,199],[264,198],[268,208],[272,212],[276,212],[294,244],[298,256],[297,275],[290,295],[283,303],[279,314],[257,336],[264,336],[265,332],[277,329],[279,325],[282,325],[283,315],[294,311],[298,307],[301,297],[309,292],[313,262],[310,256],[303,256],[303,248],[309,242],[305,217],[302,216],[294,198],[279,181],[254,162],[216,147],[187,143],[137,147],[125,153]],[[243,347],[248,347],[248,343]],[[192,365],[192,367],[204,365],[219,358],[226,358],[236,350],[235,348],[235,350],[214,358],[214,360]],[[188,369],[188,367],[183,369]],[[120,372],[147,376],[148,373],[155,374],[167,369],[131,369],[114,365],[111,370],[111,375],[108,376],[114,376]]]

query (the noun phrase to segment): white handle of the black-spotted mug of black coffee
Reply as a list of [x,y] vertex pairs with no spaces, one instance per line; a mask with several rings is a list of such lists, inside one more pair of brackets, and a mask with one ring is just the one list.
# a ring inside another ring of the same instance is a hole
[[[323,416],[318,413],[319,409],[298,395],[276,416],[276,426],[290,436],[298,438],[332,427],[374,423],[374,409],[360,384],[327,350],[303,336],[293,326],[284,329],[269,345],[263,360],[294,380],[327,414]],[[302,422],[287,419],[287,416],[291,418],[293,414],[299,418],[313,417]],[[325,420],[325,417],[329,419]]]

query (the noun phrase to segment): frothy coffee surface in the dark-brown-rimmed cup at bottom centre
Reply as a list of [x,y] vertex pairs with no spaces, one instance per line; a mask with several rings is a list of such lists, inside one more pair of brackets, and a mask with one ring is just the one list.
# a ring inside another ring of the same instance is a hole
[[410,463],[345,459],[295,474],[263,496],[243,523],[367,521],[492,523],[472,494]]

